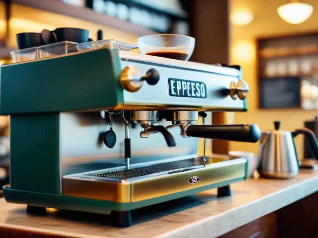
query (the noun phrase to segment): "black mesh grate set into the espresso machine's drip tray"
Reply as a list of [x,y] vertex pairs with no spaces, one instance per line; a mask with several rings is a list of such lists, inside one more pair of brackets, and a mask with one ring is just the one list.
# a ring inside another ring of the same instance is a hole
[[92,176],[124,180],[124,179],[135,178],[135,177],[140,177],[140,176],[145,176],[150,174],[156,174],[156,173],[165,172],[165,171],[171,171],[174,169],[188,168],[188,167],[197,166],[197,165],[202,165],[202,161],[189,159],[189,160],[181,160],[181,161],[169,162],[169,163],[163,163],[163,164],[155,164],[155,165],[150,165],[150,166],[142,167],[142,168],[121,170],[116,172],[106,172],[106,173],[100,173],[100,174],[92,174]]

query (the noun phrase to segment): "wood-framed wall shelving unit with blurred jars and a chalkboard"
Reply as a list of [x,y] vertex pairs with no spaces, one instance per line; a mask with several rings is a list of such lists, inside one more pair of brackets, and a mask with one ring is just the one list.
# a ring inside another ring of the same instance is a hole
[[259,108],[318,109],[318,32],[257,39]]

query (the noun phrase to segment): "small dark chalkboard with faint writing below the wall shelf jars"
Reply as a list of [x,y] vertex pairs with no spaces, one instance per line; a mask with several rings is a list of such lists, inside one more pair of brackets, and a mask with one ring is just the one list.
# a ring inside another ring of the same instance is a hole
[[260,78],[259,106],[263,109],[301,108],[299,77]]

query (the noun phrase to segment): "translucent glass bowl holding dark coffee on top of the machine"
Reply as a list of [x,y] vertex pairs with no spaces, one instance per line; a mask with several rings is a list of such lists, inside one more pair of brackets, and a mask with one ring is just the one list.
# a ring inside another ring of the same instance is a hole
[[195,46],[195,38],[176,34],[142,36],[137,40],[141,54],[176,60],[189,60]]

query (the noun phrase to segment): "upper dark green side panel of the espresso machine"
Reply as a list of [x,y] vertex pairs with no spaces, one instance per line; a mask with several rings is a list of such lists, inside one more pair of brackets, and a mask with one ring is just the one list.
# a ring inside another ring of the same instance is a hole
[[117,50],[9,64],[0,72],[1,115],[92,110],[123,101]]

